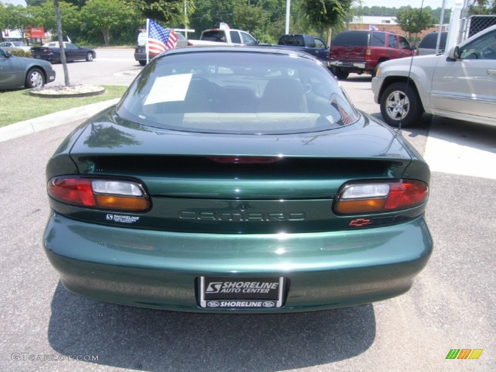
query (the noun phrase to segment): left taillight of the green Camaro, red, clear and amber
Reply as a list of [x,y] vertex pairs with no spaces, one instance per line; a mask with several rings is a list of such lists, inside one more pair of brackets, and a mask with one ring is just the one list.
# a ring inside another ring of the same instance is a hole
[[132,181],[62,176],[51,179],[47,190],[54,199],[76,206],[133,212],[150,208],[143,188]]

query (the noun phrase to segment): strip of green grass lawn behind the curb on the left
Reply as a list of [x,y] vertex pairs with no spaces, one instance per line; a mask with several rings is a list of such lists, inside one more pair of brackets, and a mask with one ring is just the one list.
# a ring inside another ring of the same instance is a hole
[[105,93],[93,97],[41,98],[29,95],[29,89],[0,91],[0,126],[22,122],[73,107],[121,98],[127,89],[121,85],[101,85]]

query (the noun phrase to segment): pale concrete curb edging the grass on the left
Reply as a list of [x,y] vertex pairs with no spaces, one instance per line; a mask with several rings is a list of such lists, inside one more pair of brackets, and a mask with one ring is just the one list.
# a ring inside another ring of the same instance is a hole
[[24,122],[2,126],[0,128],[0,142],[36,133],[54,126],[88,119],[100,111],[105,110],[107,107],[115,105],[119,100],[120,98],[114,98],[112,100],[74,107],[73,109],[25,120]]

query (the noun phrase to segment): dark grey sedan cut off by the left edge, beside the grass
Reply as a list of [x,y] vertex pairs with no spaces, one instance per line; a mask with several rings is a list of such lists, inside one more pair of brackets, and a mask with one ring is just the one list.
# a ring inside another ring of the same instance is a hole
[[0,48],[0,89],[41,88],[54,80],[50,62],[16,57]]

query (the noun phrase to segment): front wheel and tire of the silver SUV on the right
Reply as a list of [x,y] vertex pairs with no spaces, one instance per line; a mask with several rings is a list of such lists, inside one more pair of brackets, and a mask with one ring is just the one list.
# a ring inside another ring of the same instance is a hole
[[417,91],[406,82],[389,85],[380,96],[380,113],[384,121],[398,127],[408,127],[419,122],[424,109]]

